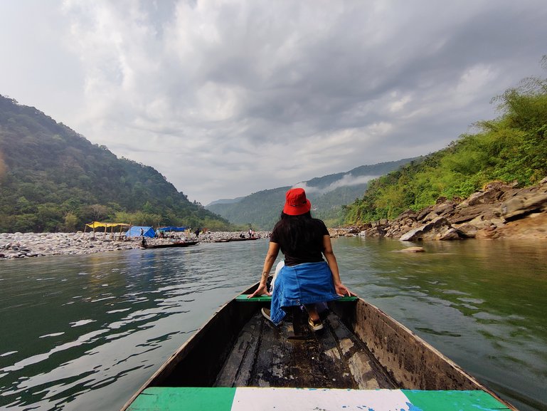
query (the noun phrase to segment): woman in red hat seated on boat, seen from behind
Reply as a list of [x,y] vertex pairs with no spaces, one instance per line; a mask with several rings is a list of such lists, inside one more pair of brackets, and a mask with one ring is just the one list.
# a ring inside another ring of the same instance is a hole
[[[304,189],[290,189],[285,199],[280,221],[270,236],[260,284],[249,298],[272,296],[270,310],[262,308],[262,315],[276,326],[285,318],[285,308],[304,306],[309,326],[318,331],[323,324],[315,304],[355,294],[341,282],[329,231],[322,220],[312,218],[312,204]],[[280,250],[285,255],[285,266],[280,268],[270,293],[266,282]]]

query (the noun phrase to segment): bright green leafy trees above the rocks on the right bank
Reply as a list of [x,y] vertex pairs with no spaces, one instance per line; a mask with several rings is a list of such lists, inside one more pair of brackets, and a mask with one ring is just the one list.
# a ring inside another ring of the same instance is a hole
[[[547,68],[547,58],[543,57]],[[547,176],[547,79],[526,78],[493,99],[501,115],[476,123],[444,150],[369,182],[345,207],[345,223],[394,219],[439,197],[468,197],[494,180],[527,186]]]

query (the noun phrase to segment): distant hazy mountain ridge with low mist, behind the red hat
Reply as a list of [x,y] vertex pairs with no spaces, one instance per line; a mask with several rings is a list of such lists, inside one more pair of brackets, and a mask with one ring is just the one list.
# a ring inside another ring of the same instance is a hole
[[416,158],[362,165],[348,172],[315,177],[292,186],[266,189],[236,199],[217,200],[208,204],[206,209],[233,224],[270,230],[280,217],[287,189],[302,187],[312,202],[312,215],[332,227],[341,224],[344,219],[342,207],[362,197],[369,180],[386,175],[413,160]]

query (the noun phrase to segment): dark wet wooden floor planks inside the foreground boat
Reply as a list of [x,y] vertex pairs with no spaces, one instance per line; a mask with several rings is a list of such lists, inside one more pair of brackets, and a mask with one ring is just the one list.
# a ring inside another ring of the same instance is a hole
[[[302,324],[307,315],[298,314],[276,327],[257,313],[238,335],[216,386],[395,387],[334,313],[317,333]],[[294,328],[301,330],[299,338],[294,338]]]

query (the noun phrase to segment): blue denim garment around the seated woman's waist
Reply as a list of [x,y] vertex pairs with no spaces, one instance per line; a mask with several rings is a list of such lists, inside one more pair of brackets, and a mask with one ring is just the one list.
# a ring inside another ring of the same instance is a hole
[[334,290],[332,273],[326,261],[284,266],[272,293],[270,316],[272,323],[279,324],[285,318],[282,307],[333,301],[339,298]]

